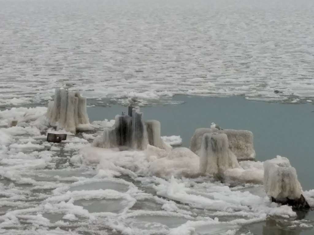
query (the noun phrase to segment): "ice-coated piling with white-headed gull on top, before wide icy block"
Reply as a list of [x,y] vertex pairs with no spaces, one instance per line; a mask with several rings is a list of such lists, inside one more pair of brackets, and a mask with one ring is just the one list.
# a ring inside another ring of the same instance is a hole
[[201,174],[212,174],[223,178],[228,169],[239,167],[236,156],[230,151],[226,134],[203,135],[199,169]]

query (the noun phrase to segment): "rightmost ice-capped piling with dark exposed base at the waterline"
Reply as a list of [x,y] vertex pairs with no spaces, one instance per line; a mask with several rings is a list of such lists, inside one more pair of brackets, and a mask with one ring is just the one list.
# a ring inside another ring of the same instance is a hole
[[294,167],[287,158],[277,156],[264,162],[264,188],[272,201],[294,208],[309,208]]

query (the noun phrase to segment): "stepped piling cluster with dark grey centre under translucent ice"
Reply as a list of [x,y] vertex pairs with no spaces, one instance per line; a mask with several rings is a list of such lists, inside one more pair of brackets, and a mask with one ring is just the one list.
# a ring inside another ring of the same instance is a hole
[[144,122],[143,113],[139,107],[129,107],[128,115],[116,115],[112,128],[105,128],[103,136],[95,138],[93,146],[100,148],[127,147],[146,149],[147,145],[166,149],[167,146],[160,137],[160,122],[148,120]]

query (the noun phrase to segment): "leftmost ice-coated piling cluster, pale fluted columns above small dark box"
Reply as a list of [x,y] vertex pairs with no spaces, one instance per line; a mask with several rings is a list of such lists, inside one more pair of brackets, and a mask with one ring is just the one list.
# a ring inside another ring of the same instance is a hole
[[49,102],[47,118],[51,126],[76,133],[78,130],[90,130],[86,111],[86,98],[79,92],[57,88],[54,101]]

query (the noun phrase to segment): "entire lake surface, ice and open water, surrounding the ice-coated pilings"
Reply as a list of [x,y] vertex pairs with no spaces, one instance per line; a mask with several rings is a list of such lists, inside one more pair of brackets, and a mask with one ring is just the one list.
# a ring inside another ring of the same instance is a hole
[[313,7],[0,0],[0,234],[313,234],[312,210],[270,203],[263,185],[156,177],[154,155],[95,151],[112,121],[51,144],[41,119],[55,88],[75,83],[69,90],[89,98],[90,121],[114,119],[138,97],[144,119],[184,147],[212,122],[250,130],[257,161],[289,158],[314,200]]

